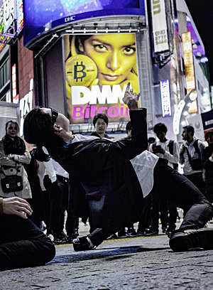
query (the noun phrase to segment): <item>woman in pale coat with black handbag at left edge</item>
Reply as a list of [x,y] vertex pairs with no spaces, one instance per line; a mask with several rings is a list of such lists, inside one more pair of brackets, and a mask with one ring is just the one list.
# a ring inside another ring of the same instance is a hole
[[6,134],[0,140],[0,197],[18,196],[29,200],[32,194],[24,164],[30,163],[31,154],[18,136],[16,121],[6,122],[5,130]]

